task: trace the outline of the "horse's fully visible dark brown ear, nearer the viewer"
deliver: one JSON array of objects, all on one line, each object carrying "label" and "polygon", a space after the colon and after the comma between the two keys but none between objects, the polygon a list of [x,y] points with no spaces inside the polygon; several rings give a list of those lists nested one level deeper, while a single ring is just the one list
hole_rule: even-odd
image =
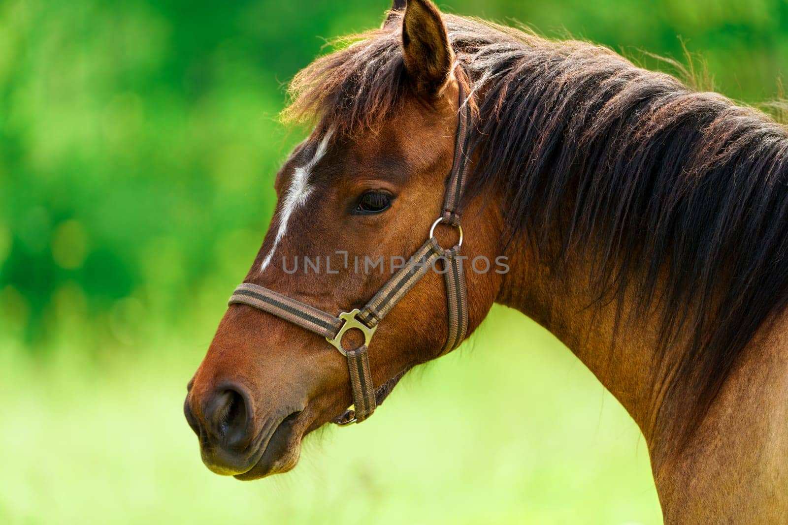
[{"label": "horse's fully visible dark brown ear, nearer the viewer", "polygon": [[416,90],[429,97],[439,94],[452,72],[454,52],[433,2],[407,1],[402,19],[402,49],[405,69]]}]

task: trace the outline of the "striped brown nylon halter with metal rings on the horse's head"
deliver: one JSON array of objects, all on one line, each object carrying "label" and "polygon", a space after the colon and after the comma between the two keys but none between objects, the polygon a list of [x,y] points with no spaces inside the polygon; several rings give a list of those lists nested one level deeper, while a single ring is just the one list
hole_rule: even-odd
[{"label": "striped brown nylon halter with metal rings on the horse's head", "polygon": [[[268,312],[305,330],[322,335],[344,357],[348,359],[348,372],[353,392],[353,409],[337,416],[333,423],[348,425],[366,420],[374,409],[391,392],[402,374],[389,379],[377,390],[370,373],[369,346],[378,324],[394,305],[439,259],[444,261],[444,282],[448,305],[448,337],[441,354],[447,353],[466,336],[468,330],[468,309],[465,275],[459,259],[460,246],[463,245],[463,228],[459,224],[459,206],[463,197],[468,172],[468,126],[471,120],[470,105],[466,101],[463,83],[459,83],[459,116],[455,134],[455,149],[452,170],[449,172],[444,195],[443,212],[429,230],[426,242],[416,250],[407,264],[394,273],[391,279],[377,291],[377,294],[363,309],[354,309],[333,316],[296,299],[288,298],[268,288],[252,283],[243,283],[236,288],[229,305],[249,305]],[[445,250],[437,242],[434,233],[438,224],[448,224],[459,231],[459,241]],[[364,343],[355,349],[344,349],[342,337],[352,329],[362,331]]]}]

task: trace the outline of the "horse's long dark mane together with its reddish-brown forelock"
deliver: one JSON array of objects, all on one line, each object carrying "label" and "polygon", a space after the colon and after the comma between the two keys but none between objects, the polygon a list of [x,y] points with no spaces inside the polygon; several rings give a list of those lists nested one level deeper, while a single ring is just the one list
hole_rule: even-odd
[{"label": "horse's long dark mane together with its reddish-brown forelock", "polygon": [[[344,135],[382,125],[408,89],[395,20],[300,72],[285,117]],[[556,271],[578,249],[593,253],[599,302],[620,310],[637,282],[634,314],[659,304],[663,353],[689,335],[679,373],[701,393],[700,418],[788,303],[786,128],[600,46],[444,21],[478,95],[467,196],[499,191],[506,242],[535,233]],[[559,246],[546,234],[556,227]]]}]

